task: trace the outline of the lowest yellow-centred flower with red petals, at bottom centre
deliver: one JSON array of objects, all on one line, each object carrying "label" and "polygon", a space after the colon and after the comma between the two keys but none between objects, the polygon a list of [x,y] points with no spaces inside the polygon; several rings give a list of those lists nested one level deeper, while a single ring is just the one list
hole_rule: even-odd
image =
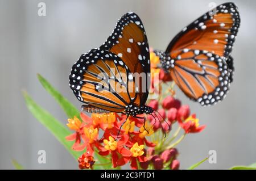
[{"label": "lowest yellow-centred flower with red petals, at bottom centre", "polygon": [[137,159],[139,162],[146,162],[147,158],[144,156],[144,145],[139,145],[138,142],[131,147],[131,169],[138,169]]}]

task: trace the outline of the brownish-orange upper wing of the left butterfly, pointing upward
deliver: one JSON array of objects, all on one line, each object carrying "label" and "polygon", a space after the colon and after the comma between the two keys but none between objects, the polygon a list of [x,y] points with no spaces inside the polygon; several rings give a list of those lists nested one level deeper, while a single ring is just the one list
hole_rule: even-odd
[{"label": "brownish-orange upper wing of the left butterfly, pointing upward", "polygon": [[150,54],[146,32],[139,16],[134,12],[123,15],[100,49],[117,54],[132,73],[137,73],[135,82],[139,84],[139,106],[144,106],[150,87]]}]

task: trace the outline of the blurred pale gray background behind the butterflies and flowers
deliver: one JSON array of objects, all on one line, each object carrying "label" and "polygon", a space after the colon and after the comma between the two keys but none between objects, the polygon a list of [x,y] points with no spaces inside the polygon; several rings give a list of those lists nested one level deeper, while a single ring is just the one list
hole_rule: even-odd
[{"label": "blurred pale gray background behind the butterflies and flowers", "polygon": [[[46,16],[38,16],[38,3],[46,3]],[[78,108],[68,86],[68,75],[80,54],[99,47],[115,23],[128,11],[142,19],[150,47],[165,49],[184,26],[209,10],[209,3],[225,1],[12,1],[0,0],[0,169],[13,169],[15,158],[26,169],[77,169],[77,163],[43,125],[28,112],[25,89],[63,124],[67,122],[55,100],[36,78],[42,74]],[[236,71],[226,99],[201,107],[178,92],[207,128],[191,134],[178,146],[181,169],[217,151],[217,163],[198,169],[228,169],[256,162],[255,78],[256,1],[234,1],[241,28],[234,44]],[[38,163],[38,150],[46,150],[46,164]]]}]

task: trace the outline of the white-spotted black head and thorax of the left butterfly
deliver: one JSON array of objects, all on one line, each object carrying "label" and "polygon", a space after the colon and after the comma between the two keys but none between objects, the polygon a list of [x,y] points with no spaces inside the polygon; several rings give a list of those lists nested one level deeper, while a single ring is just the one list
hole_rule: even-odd
[{"label": "white-spotted black head and thorax of the left butterfly", "polygon": [[149,106],[134,106],[133,104],[130,104],[129,106],[126,106],[125,113],[127,115],[136,116],[141,115],[143,113],[150,114],[154,112],[154,109]]}]

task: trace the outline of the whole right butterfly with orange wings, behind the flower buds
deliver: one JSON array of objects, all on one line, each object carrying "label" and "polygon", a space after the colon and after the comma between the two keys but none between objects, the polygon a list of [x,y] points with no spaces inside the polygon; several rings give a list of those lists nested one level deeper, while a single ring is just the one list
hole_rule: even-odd
[{"label": "whole right butterfly with orange wings, behind the flower buds", "polygon": [[154,52],[188,98],[210,106],[225,98],[233,81],[230,53],[239,27],[237,6],[224,3],[183,28],[165,52]]}]

